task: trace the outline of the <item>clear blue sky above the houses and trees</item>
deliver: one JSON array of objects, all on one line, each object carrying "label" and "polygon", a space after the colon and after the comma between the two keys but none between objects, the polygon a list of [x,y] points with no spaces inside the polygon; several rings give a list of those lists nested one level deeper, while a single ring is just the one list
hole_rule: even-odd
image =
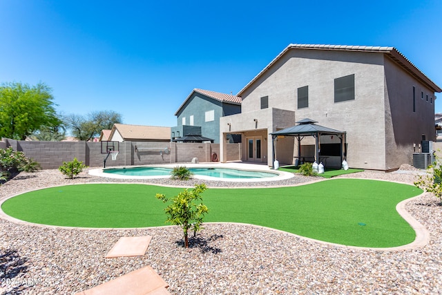
[{"label": "clear blue sky above the houses and trees", "polygon": [[236,94],[291,43],[394,46],[442,86],[440,0],[0,0],[0,38],[0,83],[126,124],[175,126],[193,88]]}]

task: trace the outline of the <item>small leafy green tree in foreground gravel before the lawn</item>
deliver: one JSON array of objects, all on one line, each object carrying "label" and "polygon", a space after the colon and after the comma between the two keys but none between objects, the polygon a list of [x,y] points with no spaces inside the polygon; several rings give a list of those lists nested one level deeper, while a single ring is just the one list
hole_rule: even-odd
[{"label": "small leafy green tree in foreground gravel before the lawn", "polygon": [[[166,214],[169,214],[166,222],[171,222],[173,225],[179,225],[184,231],[184,247],[189,247],[188,232],[193,229],[196,233],[202,229],[202,220],[204,214],[209,212],[206,205],[202,204],[201,193],[206,190],[206,184],[195,184],[195,188],[189,191],[184,189],[177,196],[173,197],[172,203],[164,209]],[[166,203],[169,199],[162,193],[157,193],[156,198]],[[200,201],[199,204],[195,202]]]}]

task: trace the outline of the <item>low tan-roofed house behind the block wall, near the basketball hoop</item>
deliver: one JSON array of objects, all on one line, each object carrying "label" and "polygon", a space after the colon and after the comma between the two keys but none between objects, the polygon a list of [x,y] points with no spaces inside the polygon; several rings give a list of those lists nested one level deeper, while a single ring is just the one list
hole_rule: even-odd
[{"label": "low tan-roofed house behind the block wall, near the basketball hoop", "polygon": [[114,124],[109,139],[118,131],[123,140],[170,140],[171,127]]}]

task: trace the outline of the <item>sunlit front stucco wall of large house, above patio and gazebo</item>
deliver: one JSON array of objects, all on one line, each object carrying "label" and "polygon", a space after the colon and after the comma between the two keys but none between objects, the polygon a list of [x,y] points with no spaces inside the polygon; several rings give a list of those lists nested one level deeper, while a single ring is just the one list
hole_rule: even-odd
[{"label": "sunlit front stucco wall of large house, above patio and gazebo", "polygon": [[[334,79],[355,75],[355,99],[334,102]],[[269,107],[295,111],[318,124],[347,132],[349,165],[385,170],[383,55],[332,50],[291,50],[243,94],[242,110]],[[309,86],[309,107],[297,109],[297,89]],[[304,144],[302,142],[302,144]]]}]

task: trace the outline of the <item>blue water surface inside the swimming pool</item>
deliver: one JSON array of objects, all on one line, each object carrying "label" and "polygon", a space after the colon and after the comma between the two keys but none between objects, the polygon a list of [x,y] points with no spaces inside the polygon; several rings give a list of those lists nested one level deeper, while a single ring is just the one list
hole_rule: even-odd
[{"label": "blue water surface inside the swimming pool", "polygon": [[[171,175],[171,168],[163,167],[129,167],[129,168],[108,168],[103,169],[104,173],[112,173],[128,176],[168,176]],[[246,171],[229,168],[189,168],[194,175],[204,175],[213,178],[249,179],[249,178],[271,178],[278,176],[277,173],[262,171]]]}]

